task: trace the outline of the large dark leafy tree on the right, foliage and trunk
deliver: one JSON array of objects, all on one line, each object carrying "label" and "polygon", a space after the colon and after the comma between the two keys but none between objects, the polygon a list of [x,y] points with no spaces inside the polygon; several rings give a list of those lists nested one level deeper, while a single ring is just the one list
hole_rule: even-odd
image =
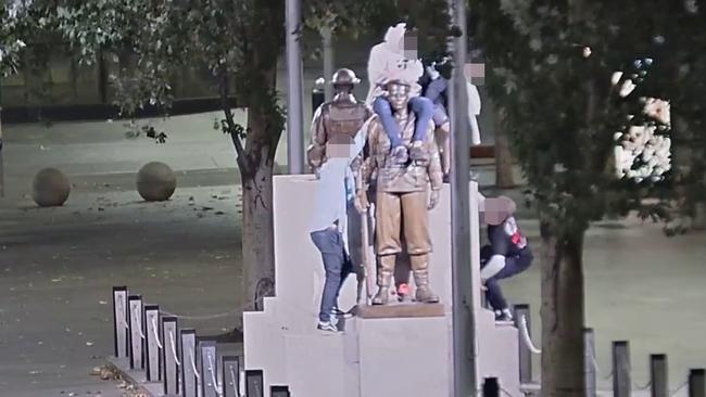
[{"label": "large dark leafy tree on the right, foliage and trunk", "polygon": [[[671,101],[672,119],[682,119],[671,132],[677,142],[703,142],[704,55],[696,49],[706,43],[704,10],[694,1],[667,0],[471,4],[488,88],[506,113],[541,219],[543,395],[582,395],[585,230],[630,210],[668,219],[675,198],[703,182],[701,161],[681,164],[658,182],[617,180],[609,168],[615,132],[652,123],[641,114],[644,97]],[[636,67],[645,60],[651,67]],[[610,82],[617,71],[639,81],[628,97]],[[703,157],[703,143],[691,148],[693,157]]]}]

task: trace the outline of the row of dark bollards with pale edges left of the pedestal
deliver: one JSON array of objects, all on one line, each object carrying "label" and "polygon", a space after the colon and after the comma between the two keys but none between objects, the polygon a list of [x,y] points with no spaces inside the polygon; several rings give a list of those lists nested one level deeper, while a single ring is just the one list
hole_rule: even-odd
[{"label": "row of dark bollards with pale edges left of the pedestal", "polygon": [[[179,329],[157,305],[125,286],[113,287],[115,358],[124,371],[144,372],[148,383],[162,384],[160,396],[264,397],[262,370],[242,371],[240,357],[223,356],[217,344]],[[244,374],[244,375],[243,375]],[[289,397],[287,386],[272,386],[273,397]]]}]

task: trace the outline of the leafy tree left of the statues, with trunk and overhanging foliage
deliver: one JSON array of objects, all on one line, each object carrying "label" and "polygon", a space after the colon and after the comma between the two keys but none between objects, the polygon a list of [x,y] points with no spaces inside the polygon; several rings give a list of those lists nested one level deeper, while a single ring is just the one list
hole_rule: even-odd
[{"label": "leafy tree left of the statues, with trunk and overhanging foliage", "polygon": [[[407,21],[418,22],[421,37],[434,37],[427,47],[444,42],[444,7],[400,3],[303,0],[302,29],[382,34],[387,26]],[[147,104],[168,113],[177,73],[210,72],[213,92],[223,104],[218,127],[231,138],[242,177],[245,299],[270,293],[266,286],[272,287],[274,279],[272,176],[285,126],[276,92],[277,62],[285,47],[285,0],[4,0],[3,7],[2,72],[16,69],[22,40],[41,42],[41,35],[59,35],[83,63],[100,56],[119,61],[111,84],[127,116]],[[247,125],[234,119],[234,98],[248,108]],[[255,291],[257,285],[262,291]]]}]

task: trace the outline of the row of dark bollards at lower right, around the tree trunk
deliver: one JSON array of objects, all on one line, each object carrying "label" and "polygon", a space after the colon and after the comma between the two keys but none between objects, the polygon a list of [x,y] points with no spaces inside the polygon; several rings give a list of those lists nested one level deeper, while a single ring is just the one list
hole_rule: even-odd
[{"label": "row of dark bollards at lower right, around the tree trunk", "polygon": [[[529,335],[530,309],[529,305],[516,305],[515,325],[519,333],[519,379],[522,388],[529,390],[533,385],[532,380],[532,351],[531,337]],[[524,335],[522,333],[527,333]],[[597,377],[600,370],[595,359],[595,334],[593,329],[584,329],[584,368],[585,368],[585,396],[597,396]],[[630,364],[630,344],[627,341],[616,341],[613,343],[613,372],[605,379],[613,377],[613,394],[615,397],[630,397],[633,389]],[[493,382],[489,385],[489,390],[494,390]],[[692,369],[689,373],[689,380],[676,390],[669,389],[667,355],[656,354],[650,356],[650,383],[644,387],[634,387],[646,390],[650,388],[652,397],[671,397],[681,388],[688,387],[689,397],[706,397],[706,370]],[[486,386],[483,386],[483,392]],[[492,392],[494,393],[494,392]],[[483,394],[486,396],[486,394]],[[488,396],[495,396],[490,394]]]}]

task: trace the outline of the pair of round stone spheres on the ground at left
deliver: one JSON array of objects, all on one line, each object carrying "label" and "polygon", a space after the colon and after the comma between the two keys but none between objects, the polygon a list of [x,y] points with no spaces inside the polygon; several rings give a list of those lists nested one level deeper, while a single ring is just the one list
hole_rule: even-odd
[{"label": "pair of round stone spheres on the ground at left", "polygon": [[[176,175],[160,162],[146,164],[137,172],[137,192],[147,202],[167,201],[176,190]],[[71,194],[71,182],[56,168],[43,168],[31,182],[31,198],[40,207],[60,207]]]}]

